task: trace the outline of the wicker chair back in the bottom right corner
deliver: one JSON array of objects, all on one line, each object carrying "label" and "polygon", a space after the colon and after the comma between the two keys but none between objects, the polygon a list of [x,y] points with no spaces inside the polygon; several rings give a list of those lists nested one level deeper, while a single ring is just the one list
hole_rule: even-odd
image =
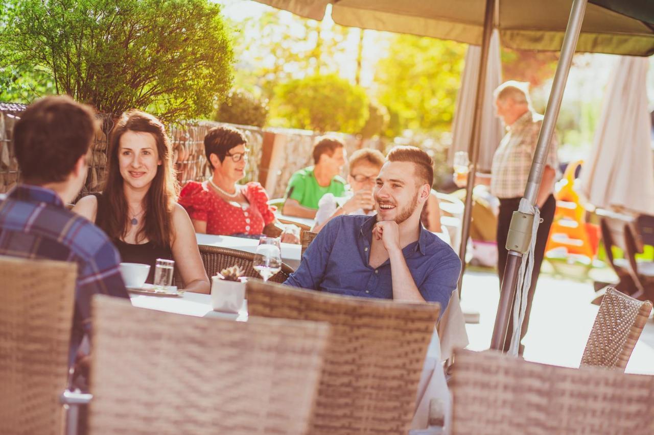
[{"label": "wicker chair back in the bottom right corner", "polygon": [[654,376],[456,351],[449,384],[457,434],[652,434]]}]

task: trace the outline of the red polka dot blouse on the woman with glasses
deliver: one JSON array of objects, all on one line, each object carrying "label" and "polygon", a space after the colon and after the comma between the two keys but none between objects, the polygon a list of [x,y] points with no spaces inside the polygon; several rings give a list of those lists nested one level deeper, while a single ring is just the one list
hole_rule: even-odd
[{"label": "red polka dot blouse on the woman with glasses", "polygon": [[264,227],[275,221],[275,208],[267,204],[268,195],[262,185],[251,182],[241,191],[249,206],[225,201],[207,182],[188,182],[179,195],[179,203],[191,219],[207,222],[207,234],[262,234]]}]

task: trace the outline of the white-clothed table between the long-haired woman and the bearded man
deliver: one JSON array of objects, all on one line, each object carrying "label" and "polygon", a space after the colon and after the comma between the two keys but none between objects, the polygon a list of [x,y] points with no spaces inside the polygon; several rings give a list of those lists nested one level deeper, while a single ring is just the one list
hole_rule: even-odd
[{"label": "white-clothed table between the long-haired woman and the bearded man", "polygon": [[[214,317],[234,321],[247,321],[247,300],[243,301],[237,313],[214,311],[211,306],[211,295],[182,292],[179,296],[143,295],[130,293],[131,304],[139,308],[158,310],[163,312],[193,315],[195,317]],[[418,384],[416,396],[416,410],[411,422],[411,429],[421,430],[427,427],[430,402],[439,400],[448,419],[451,409],[451,396],[447,389],[443,364],[441,361],[441,348],[438,331],[434,328],[432,340],[427,348],[421,379]],[[420,432],[415,432],[420,433]]]}]

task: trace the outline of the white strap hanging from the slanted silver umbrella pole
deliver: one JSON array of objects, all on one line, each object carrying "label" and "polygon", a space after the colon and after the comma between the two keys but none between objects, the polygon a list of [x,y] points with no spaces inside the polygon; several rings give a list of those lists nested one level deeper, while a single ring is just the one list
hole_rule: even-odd
[{"label": "white strap hanging from the slanted silver umbrella pole", "polygon": [[532,226],[531,240],[529,242],[529,250],[523,255],[518,270],[518,282],[515,291],[515,303],[513,305],[513,335],[511,336],[511,346],[509,346],[509,355],[517,355],[518,347],[520,346],[520,334],[523,327],[523,320],[525,319],[525,312],[527,307],[527,298],[529,287],[531,286],[532,272],[534,271],[534,251],[536,249],[536,235],[538,234],[538,224],[540,223],[540,210],[538,207],[533,206],[532,203],[525,198],[520,200],[518,211],[521,213],[534,215],[534,223]]}]

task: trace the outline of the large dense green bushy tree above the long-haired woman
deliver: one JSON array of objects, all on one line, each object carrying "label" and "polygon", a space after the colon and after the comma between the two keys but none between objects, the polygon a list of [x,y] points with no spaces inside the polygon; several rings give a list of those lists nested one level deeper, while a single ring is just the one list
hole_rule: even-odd
[{"label": "large dense green bushy tree above the long-haired woman", "polygon": [[209,0],[10,0],[2,22],[5,71],[42,71],[101,112],[205,117],[231,87],[232,42]]}]

